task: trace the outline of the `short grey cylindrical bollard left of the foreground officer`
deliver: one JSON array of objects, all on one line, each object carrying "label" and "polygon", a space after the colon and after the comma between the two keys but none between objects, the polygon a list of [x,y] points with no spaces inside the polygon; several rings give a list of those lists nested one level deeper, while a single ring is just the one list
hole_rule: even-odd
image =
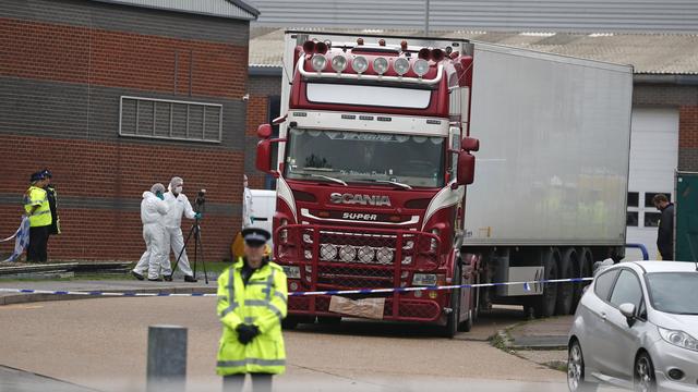
[{"label": "short grey cylindrical bollard left of the foreground officer", "polygon": [[186,380],[186,328],[148,327],[147,392],[184,392]]}]

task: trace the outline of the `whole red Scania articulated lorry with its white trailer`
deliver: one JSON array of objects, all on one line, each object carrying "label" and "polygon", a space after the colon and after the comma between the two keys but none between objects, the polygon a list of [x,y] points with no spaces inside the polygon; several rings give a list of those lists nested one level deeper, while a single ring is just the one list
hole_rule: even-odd
[{"label": "whole red Scania articulated lorry with its white trailer", "polygon": [[[289,291],[590,277],[623,257],[630,66],[462,39],[285,39],[279,134],[260,126],[256,167],[277,177]],[[285,326],[352,316],[453,336],[492,304],[569,314],[582,289],[292,296]]]}]

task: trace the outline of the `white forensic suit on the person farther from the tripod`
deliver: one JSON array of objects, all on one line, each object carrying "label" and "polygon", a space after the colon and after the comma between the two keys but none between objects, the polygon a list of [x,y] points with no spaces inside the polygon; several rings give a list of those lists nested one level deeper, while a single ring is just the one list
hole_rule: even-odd
[{"label": "white forensic suit on the person farther from the tripod", "polygon": [[158,279],[160,272],[164,275],[171,274],[170,264],[167,261],[168,248],[165,238],[165,216],[169,207],[152,192],[143,193],[141,201],[141,221],[143,222],[143,240],[145,240],[145,253],[133,269],[143,274],[148,270],[148,279]]}]

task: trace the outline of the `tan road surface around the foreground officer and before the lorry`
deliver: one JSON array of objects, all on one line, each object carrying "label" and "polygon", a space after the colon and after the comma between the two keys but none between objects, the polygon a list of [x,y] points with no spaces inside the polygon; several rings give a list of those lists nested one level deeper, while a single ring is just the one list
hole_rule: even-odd
[{"label": "tan road surface around the foreground officer and before the lorry", "polygon": [[[0,307],[0,365],[104,391],[143,391],[147,327],[189,329],[188,391],[216,391],[215,298],[100,298]],[[276,391],[563,391],[565,375],[492,347],[522,320],[501,309],[454,340],[433,328],[348,320],[285,334]],[[0,384],[0,390],[2,387]]]}]

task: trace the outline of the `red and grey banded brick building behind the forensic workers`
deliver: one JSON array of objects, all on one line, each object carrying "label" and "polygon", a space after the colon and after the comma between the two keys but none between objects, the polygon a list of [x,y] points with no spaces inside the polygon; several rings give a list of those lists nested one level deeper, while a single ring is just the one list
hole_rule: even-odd
[{"label": "red and grey banded brick building behind the forensic workers", "polygon": [[227,258],[257,14],[240,0],[0,2],[0,236],[49,168],[63,231],[49,258],[135,260],[141,195],[178,175],[191,200],[207,189],[206,259]]}]

